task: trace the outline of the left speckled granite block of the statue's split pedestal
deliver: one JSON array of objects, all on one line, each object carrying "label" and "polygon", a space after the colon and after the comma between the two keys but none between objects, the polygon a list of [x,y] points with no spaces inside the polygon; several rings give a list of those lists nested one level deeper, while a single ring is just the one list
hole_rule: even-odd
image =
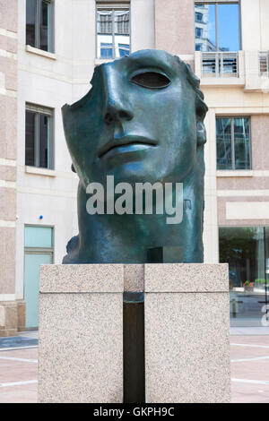
[{"label": "left speckled granite block of the statue's split pedestal", "polygon": [[122,401],[123,273],[123,265],[41,266],[39,402]]}]

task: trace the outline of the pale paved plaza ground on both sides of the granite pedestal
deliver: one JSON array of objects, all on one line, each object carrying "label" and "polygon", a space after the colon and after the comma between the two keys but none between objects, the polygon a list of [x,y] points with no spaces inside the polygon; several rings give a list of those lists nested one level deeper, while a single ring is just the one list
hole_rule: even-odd
[{"label": "pale paved plaza ground on both sides of the granite pedestal", "polygon": [[[269,329],[230,331],[232,402],[269,403]],[[0,403],[37,402],[38,332],[0,338]]]}]

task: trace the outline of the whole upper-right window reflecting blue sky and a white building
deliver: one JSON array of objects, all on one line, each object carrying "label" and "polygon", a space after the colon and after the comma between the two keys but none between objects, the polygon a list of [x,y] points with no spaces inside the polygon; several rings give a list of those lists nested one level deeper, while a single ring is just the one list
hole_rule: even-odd
[{"label": "whole upper-right window reflecting blue sky and a white building", "polygon": [[[204,6],[203,8],[201,6]],[[202,51],[239,51],[239,3],[195,4],[195,39],[196,28],[204,26]],[[199,12],[198,12],[199,11]],[[199,18],[198,15],[202,15]],[[198,40],[199,44],[200,41]],[[195,48],[196,49],[196,48]],[[197,51],[197,49],[196,49]]]}]

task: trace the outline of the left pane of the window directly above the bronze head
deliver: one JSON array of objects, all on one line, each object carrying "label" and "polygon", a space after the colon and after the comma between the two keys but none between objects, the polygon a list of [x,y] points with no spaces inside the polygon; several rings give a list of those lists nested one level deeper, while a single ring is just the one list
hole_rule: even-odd
[{"label": "left pane of the window directly above the bronze head", "polygon": [[113,58],[112,11],[97,12],[97,56]]}]

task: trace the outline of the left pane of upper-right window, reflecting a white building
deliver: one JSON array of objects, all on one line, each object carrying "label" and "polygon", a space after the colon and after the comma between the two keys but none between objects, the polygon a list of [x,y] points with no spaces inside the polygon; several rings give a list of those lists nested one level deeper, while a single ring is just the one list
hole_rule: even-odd
[{"label": "left pane of upper-right window, reflecting a white building", "polygon": [[203,7],[195,4],[195,46],[196,51],[217,49],[215,4],[204,4]]}]

